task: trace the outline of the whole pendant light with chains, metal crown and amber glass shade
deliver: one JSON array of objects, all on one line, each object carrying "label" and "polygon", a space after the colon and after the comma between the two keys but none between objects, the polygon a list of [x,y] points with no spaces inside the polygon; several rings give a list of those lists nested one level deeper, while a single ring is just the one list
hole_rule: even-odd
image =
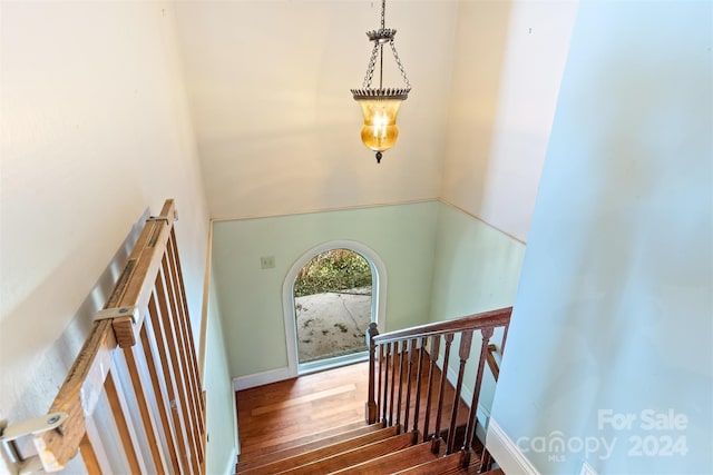
[{"label": "whole pendant light with chains, metal crown and amber glass shade", "polygon": [[[352,89],[354,100],[361,106],[364,113],[364,125],[361,128],[361,140],[367,147],[377,152],[377,162],[381,162],[382,152],[390,149],[399,138],[399,127],[397,126],[397,113],[401,102],[409,97],[411,83],[406,77],[403,66],[393,44],[393,37],[397,30],[384,27],[385,22],[387,0],[381,1],[381,28],[368,31],[369,41],[373,41],[374,47],[371,50],[371,58],[367,67],[367,76],[362,89]],[[406,85],[404,88],[383,88],[383,47],[391,47],[393,58],[397,61],[399,71]],[[371,87],[371,81],[379,60],[379,88]]]}]

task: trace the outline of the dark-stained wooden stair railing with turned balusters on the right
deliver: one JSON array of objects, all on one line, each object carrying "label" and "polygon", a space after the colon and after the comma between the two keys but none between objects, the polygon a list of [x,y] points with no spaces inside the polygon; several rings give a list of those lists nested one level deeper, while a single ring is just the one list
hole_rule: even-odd
[{"label": "dark-stained wooden stair railing with turned balusters on the right", "polygon": [[[403,330],[379,335],[375,324],[369,327],[369,397],[365,418],[369,424],[382,423],[384,427],[402,426],[413,433],[413,443],[431,441],[433,453],[446,444],[446,454],[461,452],[461,464],[470,464],[475,445],[478,399],[482,385],[485,364],[492,358],[490,338],[498,327],[504,327],[500,353],[505,349],[507,330],[512,307],[470,315],[467,317],[438,321]],[[481,344],[470,409],[462,435],[457,437],[458,416],[466,364],[470,358],[473,333],[480,333]],[[450,414],[445,414],[448,369],[451,364],[453,342],[458,340],[458,374],[452,392]],[[443,354],[441,358],[441,343]],[[497,348],[497,346],[496,346]],[[455,364],[456,362],[453,362]],[[495,363],[495,359],[492,359]],[[492,364],[489,363],[489,366]],[[490,366],[492,368],[492,366]],[[497,364],[496,364],[497,368]],[[440,375],[440,376],[439,376]],[[494,376],[497,375],[494,372]],[[437,384],[438,380],[438,384]],[[426,386],[423,388],[423,386]],[[423,390],[426,389],[426,390]],[[426,392],[426,395],[423,393]],[[431,428],[431,414],[436,409],[436,420]],[[411,409],[413,413],[411,414]],[[443,418],[446,417],[446,420]],[[420,425],[420,426],[419,426]],[[441,434],[447,437],[441,441]],[[458,446],[457,446],[458,443]],[[487,453],[481,459],[488,458]]]}]

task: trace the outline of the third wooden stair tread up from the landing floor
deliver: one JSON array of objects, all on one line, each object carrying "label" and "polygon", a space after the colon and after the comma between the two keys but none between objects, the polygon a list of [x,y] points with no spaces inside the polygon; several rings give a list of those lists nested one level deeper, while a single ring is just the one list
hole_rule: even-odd
[{"label": "third wooden stair tread up from the landing floor", "polygon": [[393,437],[352,448],[299,467],[286,468],[281,473],[289,473],[291,475],[333,473],[352,465],[410,447],[413,435],[411,433],[394,435]]}]

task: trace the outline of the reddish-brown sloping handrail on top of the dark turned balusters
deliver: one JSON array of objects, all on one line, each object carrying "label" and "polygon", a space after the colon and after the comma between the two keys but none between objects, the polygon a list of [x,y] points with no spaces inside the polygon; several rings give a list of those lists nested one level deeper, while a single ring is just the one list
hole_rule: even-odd
[{"label": "reddish-brown sloping handrail on top of the dark turned balusters", "polygon": [[506,326],[510,321],[512,307],[499,308],[497,310],[484,311],[481,314],[468,315],[446,321],[420,325],[395,331],[380,334],[374,337],[375,344],[400,342],[403,339],[422,338],[432,335],[443,335],[447,333],[458,333],[463,330],[480,330],[490,327]]}]

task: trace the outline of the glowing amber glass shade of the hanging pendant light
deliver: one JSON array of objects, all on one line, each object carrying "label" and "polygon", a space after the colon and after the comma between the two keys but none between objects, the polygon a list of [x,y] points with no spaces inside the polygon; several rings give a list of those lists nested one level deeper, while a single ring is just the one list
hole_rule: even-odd
[{"label": "glowing amber glass shade of the hanging pendant light", "polygon": [[402,100],[370,98],[360,99],[358,102],[364,113],[361,141],[377,152],[393,147],[399,138],[397,115]]}]

